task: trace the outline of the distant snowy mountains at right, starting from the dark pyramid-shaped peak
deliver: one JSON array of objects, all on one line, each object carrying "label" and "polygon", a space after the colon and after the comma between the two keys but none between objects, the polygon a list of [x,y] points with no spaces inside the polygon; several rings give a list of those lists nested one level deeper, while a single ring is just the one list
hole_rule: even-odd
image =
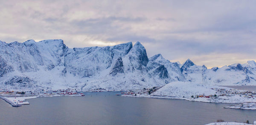
[{"label": "distant snowy mountains at right, starting from the dark pyramid-shaped peak", "polygon": [[205,65],[195,65],[188,59],[180,70],[186,80],[191,82],[202,82],[208,85],[256,85],[256,62],[254,61],[207,69]]}]

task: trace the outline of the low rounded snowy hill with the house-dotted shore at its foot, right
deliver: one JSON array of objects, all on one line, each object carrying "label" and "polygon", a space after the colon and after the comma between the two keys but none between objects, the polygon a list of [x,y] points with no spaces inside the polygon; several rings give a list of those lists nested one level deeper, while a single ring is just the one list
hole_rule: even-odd
[{"label": "low rounded snowy hill with the house-dotted shore at its foot, right", "polygon": [[[134,94],[125,94],[125,96],[186,99],[189,101],[215,103],[256,102],[256,92],[240,91],[221,86],[202,85],[196,82],[171,82],[161,88],[144,89]],[[250,109],[254,108],[256,108],[256,106],[251,105]]]}]

